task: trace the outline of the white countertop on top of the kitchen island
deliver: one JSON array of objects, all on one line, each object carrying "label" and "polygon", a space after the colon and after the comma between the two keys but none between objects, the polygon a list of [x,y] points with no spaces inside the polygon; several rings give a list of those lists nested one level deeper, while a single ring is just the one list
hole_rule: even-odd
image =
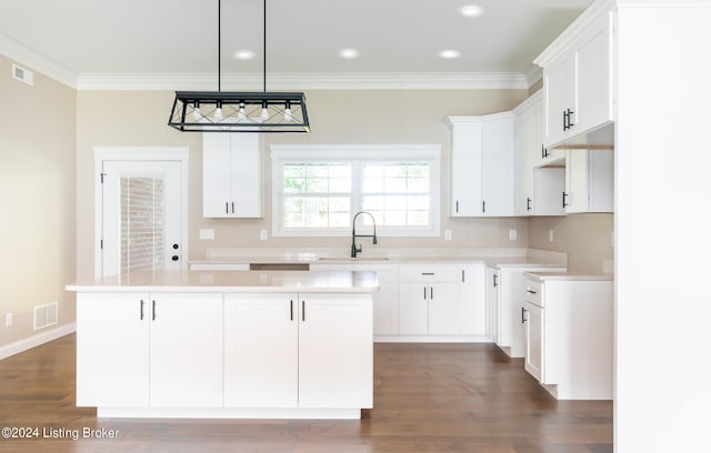
[{"label": "white countertop on top of the kitchen island", "polygon": [[371,271],[168,271],[130,272],[68,284],[77,292],[324,292],[372,293]]}]

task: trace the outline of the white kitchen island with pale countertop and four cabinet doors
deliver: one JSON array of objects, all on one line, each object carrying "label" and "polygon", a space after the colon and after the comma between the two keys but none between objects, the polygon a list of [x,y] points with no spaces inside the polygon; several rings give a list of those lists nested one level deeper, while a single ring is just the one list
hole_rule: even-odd
[{"label": "white kitchen island with pale countertop and four cabinet doors", "polygon": [[77,405],[106,417],[359,419],[373,272],[141,272],[78,282]]}]

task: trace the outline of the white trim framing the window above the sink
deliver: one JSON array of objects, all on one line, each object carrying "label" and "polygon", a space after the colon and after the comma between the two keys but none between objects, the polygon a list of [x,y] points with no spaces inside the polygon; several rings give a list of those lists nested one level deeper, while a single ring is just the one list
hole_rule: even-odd
[{"label": "white trim framing the window above the sink", "polygon": [[[359,164],[361,161],[427,161],[430,164],[430,198],[432,224],[427,229],[408,226],[381,228],[378,225],[379,236],[415,238],[440,235],[440,160],[442,147],[440,144],[272,144],[271,150],[271,181],[272,181],[272,235],[274,236],[349,236],[349,228],[323,228],[309,230],[283,230],[281,221],[283,207],[283,164],[301,162],[350,161]],[[353,181],[360,187],[360,181]],[[360,202],[360,192],[356,199]],[[354,212],[353,212],[354,213]]]}]

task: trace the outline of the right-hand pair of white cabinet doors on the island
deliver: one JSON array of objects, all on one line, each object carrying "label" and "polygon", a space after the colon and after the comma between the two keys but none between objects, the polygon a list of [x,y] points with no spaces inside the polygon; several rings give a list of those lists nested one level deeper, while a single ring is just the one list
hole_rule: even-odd
[{"label": "right-hand pair of white cabinet doors on the island", "polygon": [[224,405],[372,407],[370,295],[226,294]]}]

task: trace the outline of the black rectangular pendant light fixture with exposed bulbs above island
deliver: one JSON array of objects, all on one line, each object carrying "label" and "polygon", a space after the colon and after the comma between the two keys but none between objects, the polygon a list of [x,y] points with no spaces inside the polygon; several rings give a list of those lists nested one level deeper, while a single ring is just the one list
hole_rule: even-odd
[{"label": "black rectangular pendant light fixture with exposed bulbs above island", "polygon": [[267,92],[267,0],[262,92],[222,91],[221,9],[218,0],[218,91],[176,91],[168,125],[182,132],[311,132],[302,92]]}]

